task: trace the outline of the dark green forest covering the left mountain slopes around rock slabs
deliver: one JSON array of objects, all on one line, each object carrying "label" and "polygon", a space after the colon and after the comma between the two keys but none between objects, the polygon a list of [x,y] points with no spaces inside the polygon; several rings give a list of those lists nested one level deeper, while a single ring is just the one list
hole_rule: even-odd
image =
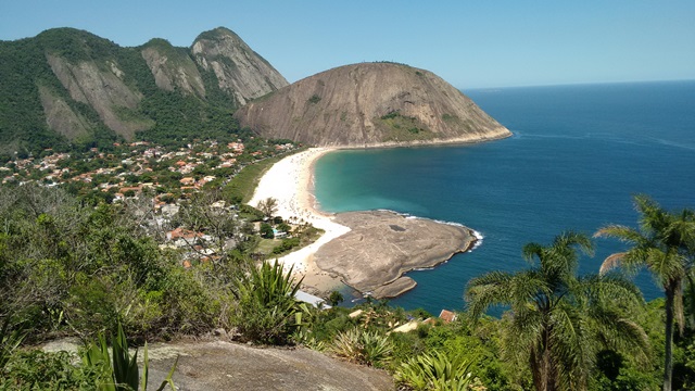
[{"label": "dark green forest covering the left mountain slopes around rock slabs", "polygon": [[[212,34],[212,33],[211,33]],[[123,72],[124,83],[142,94],[136,110],[118,108],[121,119],[146,124],[136,139],[161,146],[180,146],[197,138],[232,139],[239,130],[232,118],[237,102],[219,88],[214,72],[199,68],[205,98],[157,88],[141,51],[156,47],[177,55],[190,55],[189,49],[174,48],[154,39],[136,48],[122,48],[88,31],[55,28],[34,38],[0,41],[0,160],[16,152],[20,159],[37,155],[43,149],[59,152],[110,150],[123,137],[108,128],[90,105],[73,100],[54,75],[47,55],[58,55],[70,63],[92,62],[100,68],[111,62]],[[89,135],[66,137],[50,129],[39,93],[47,88],[65,101],[70,109],[86,118]]]}]

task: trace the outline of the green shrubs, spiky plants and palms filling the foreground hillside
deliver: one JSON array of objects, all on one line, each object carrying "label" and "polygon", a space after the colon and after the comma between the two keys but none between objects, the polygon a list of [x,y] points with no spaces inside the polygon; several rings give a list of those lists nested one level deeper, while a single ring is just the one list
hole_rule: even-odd
[{"label": "green shrubs, spiky plants and palms filling the foreground hillside", "polygon": [[[223,197],[216,194],[202,205]],[[273,214],[268,203],[267,211],[255,211],[258,218]],[[598,230],[634,245],[607,265],[644,264],[664,281],[666,300],[644,303],[615,270],[578,276],[580,255],[594,243],[565,232],[549,244],[526,245],[528,269],[472,279],[467,308],[445,323],[387,302],[324,311],[301,303],[293,298],[300,281],[278,264],[253,261],[257,241],[240,235],[248,226],[222,224],[230,220],[205,215],[205,209],[182,207],[177,224],[194,222],[238,240],[233,248],[220,242],[211,262],[185,268],[182,253],[160,245],[142,210],[131,204],[94,207],[59,189],[0,188],[0,389],[104,387],[114,379],[99,358],[104,341],[142,345],[217,328],[238,341],[300,344],[383,368],[402,389],[692,388],[695,220],[690,210],[669,213],[646,198],[636,205],[640,230]],[[508,311],[501,318],[484,315],[495,304]],[[410,321],[412,331],[394,331]],[[81,361],[31,348],[66,336],[91,346]],[[142,384],[143,371],[131,384]]]}]

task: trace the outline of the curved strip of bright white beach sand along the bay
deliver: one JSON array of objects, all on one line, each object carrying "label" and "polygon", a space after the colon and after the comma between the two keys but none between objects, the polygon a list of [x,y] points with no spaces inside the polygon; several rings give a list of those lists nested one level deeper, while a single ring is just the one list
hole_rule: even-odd
[{"label": "curved strip of bright white beach sand along the bay", "polygon": [[350,231],[350,228],[332,220],[332,215],[315,207],[313,194],[314,163],[332,148],[312,148],[287,156],[274,164],[261,178],[249,204],[273,197],[278,202],[277,215],[290,223],[309,223],[325,231],[314,243],[292,252],[279,261],[286,269],[293,267],[295,277],[304,277],[304,285],[320,291],[330,291],[340,281],[319,269],[313,261],[316,251],[329,241]]}]

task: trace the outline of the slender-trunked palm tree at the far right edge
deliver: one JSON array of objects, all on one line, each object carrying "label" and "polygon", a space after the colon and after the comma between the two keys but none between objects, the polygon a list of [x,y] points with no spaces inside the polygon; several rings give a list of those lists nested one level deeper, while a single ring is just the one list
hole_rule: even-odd
[{"label": "slender-trunked palm tree at the far right edge", "polygon": [[672,214],[646,195],[634,197],[640,213],[640,229],[610,225],[595,237],[618,238],[632,244],[624,252],[608,256],[601,273],[622,266],[634,273],[646,267],[664,288],[666,295],[666,354],[664,390],[670,391],[673,376],[673,323],[683,331],[683,282],[692,279],[695,253],[695,212],[683,210]]}]

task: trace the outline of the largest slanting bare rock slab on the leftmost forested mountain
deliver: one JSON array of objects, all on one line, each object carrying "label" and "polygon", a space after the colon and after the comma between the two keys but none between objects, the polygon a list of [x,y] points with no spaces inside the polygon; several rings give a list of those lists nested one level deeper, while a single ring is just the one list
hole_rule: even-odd
[{"label": "largest slanting bare rock slab on the leftmost forested mountain", "polygon": [[123,81],[124,73],[118,64],[110,61],[104,70],[93,61],[74,64],[52,54],[47,54],[47,59],[71,98],[92,106],[109,128],[126,139],[147,128],[142,123],[123,121],[117,114],[119,109],[135,110],[142,99],[142,93]]}]

